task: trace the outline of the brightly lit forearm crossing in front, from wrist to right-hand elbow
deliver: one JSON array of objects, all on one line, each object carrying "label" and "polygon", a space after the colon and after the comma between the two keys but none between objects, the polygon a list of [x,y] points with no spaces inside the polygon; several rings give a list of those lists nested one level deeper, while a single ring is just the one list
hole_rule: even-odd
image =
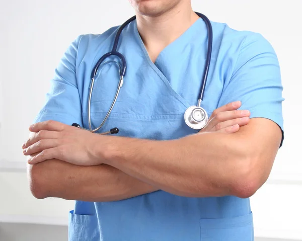
[{"label": "brightly lit forearm crossing in front, from wrist to right-hand elbow", "polygon": [[268,177],[279,141],[265,150],[250,141],[256,128],[259,124],[235,134],[201,133],[169,141],[112,137],[114,145],[100,153],[106,164],[176,195],[245,198]]}]

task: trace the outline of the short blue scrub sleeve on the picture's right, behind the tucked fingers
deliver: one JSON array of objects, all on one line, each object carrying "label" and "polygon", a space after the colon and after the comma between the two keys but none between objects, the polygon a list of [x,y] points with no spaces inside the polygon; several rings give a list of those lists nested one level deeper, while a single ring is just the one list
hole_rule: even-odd
[{"label": "short blue scrub sleeve on the picture's right, behind the tucked fingers", "polygon": [[277,123],[283,142],[282,90],[274,49],[264,37],[253,33],[241,46],[232,77],[224,84],[218,106],[241,101],[240,109],[249,110],[251,118],[263,117]]}]

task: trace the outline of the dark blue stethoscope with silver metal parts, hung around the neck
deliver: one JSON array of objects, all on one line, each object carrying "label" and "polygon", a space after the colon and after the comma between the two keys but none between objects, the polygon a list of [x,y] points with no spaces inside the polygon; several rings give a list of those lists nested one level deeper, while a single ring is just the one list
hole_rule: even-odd
[{"label": "dark blue stethoscope with silver metal parts, hung around the neck", "polygon": [[[207,27],[207,30],[208,30],[208,49],[207,49],[207,54],[206,54],[206,62],[205,62],[205,66],[204,66],[204,72],[203,72],[203,76],[202,76],[200,95],[199,95],[199,99],[197,101],[197,106],[190,106],[186,110],[184,118],[185,118],[186,124],[189,127],[191,127],[192,129],[195,129],[195,130],[199,130],[199,129],[202,129],[203,127],[205,127],[206,124],[207,124],[207,121],[208,121],[208,115],[207,115],[206,111],[200,106],[201,106],[201,102],[202,102],[203,96],[204,96],[204,90],[205,90],[205,86],[206,86],[206,81],[207,81],[207,76],[208,76],[208,71],[209,71],[209,66],[210,66],[210,61],[211,61],[213,32],[212,32],[212,26],[211,26],[211,23],[210,23],[209,19],[203,14],[200,14],[200,13],[196,13],[196,14],[200,18],[202,18],[203,21],[206,24],[206,27]],[[120,89],[123,86],[124,77],[126,75],[126,69],[127,69],[127,64],[126,64],[125,57],[120,52],[117,51],[117,45],[118,45],[118,42],[119,42],[120,34],[121,34],[122,30],[130,22],[132,22],[135,19],[136,19],[136,17],[133,16],[132,18],[128,19],[125,23],[123,23],[119,27],[119,29],[116,33],[115,39],[114,39],[114,43],[113,43],[113,47],[112,47],[111,52],[108,52],[108,53],[104,54],[99,59],[99,61],[96,63],[95,67],[92,70],[91,83],[90,83],[90,87],[89,87],[90,90],[89,90],[89,96],[88,96],[88,110],[87,110],[88,111],[89,129],[83,128],[77,123],[73,123],[72,126],[75,126],[75,127],[81,128],[81,129],[85,129],[85,130],[89,130],[90,132],[96,132],[96,131],[100,130],[104,126],[105,122],[107,121],[107,119],[108,119],[108,117],[109,117],[109,115],[110,115],[110,113],[111,113],[111,111],[112,111],[112,109],[113,109],[113,107],[116,103],[116,100],[117,100],[118,95],[120,93]],[[117,56],[121,60],[121,65],[122,66],[120,66],[116,61],[113,61],[113,60],[104,62],[104,60],[106,58],[108,58],[109,56],[111,56],[111,55]],[[116,90],[114,99],[112,101],[112,104],[111,104],[104,120],[99,125],[99,127],[93,129],[92,125],[91,125],[91,98],[92,98],[92,92],[93,92],[93,88],[94,88],[94,84],[95,84],[95,77],[98,73],[100,65],[103,64],[103,66],[104,66],[105,63],[109,63],[109,62],[113,62],[113,63],[117,64],[117,66],[119,67],[120,79],[119,79],[119,83],[118,83],[118,88]],[[107,131],[107,132],[104,132],[104,133],[98,133],[98,134],[101,134],[101,135],[105,135],[105,134],[109,134],[109,133],[117,134],[118,132],[119,132],[118,128],[115,127],[115,128],[112,128],[110,131]]]}]

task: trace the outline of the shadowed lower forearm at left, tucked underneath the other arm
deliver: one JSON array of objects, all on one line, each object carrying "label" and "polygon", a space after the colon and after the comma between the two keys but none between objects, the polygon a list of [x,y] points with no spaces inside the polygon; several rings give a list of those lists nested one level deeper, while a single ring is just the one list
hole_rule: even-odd
[{"label": "shadowed lower forearm at left, tucked underneath the other arm", "polygon": [[111,166],[75,166],[61,160],[28,165],[32,194],[89,202],[118,201],[158,189]]}]

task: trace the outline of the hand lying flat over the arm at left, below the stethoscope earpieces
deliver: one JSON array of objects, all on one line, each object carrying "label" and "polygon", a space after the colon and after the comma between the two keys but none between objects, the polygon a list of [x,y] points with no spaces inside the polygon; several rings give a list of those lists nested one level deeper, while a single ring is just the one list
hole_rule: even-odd
[{"label": "hand lying flat over the arm at left, below the stethoscope earpieces", "polygon": [[104,136],[57,121],[39,122],[29,130],[34,134],[22,148],[24,155],[30,155],[28,163],[31,165],[53,158],[80,166],[102,164],[94,147],[96,143],[102,146],[100,140],[106,138]]}]

